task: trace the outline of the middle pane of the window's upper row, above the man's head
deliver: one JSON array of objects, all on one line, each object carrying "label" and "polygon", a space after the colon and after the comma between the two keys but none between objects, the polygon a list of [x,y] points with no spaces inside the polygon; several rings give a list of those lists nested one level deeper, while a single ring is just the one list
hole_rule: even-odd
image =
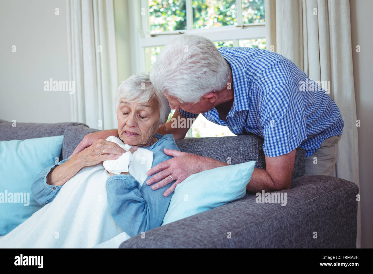
[{"label": "middle pane of the window's upper row, above the man's head", "polygon": [[192,0],[193,28],[237,24],[235,0]]}]

